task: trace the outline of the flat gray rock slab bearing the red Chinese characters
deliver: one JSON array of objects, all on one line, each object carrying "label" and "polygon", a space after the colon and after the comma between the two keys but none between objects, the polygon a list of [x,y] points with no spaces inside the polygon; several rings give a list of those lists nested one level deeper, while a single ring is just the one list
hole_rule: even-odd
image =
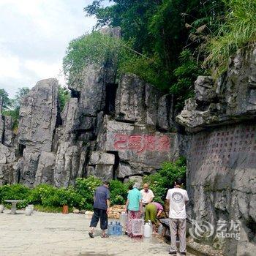
[{"label": "flat gray rock slab bearing the red Chinese characters", "polygon": [[108,118],[103,127],[98,137],[99,150],[116,151],[121,161],[129,162],[128,168],[135,168],[135,173],[127,172],[126,176],[135,175],[140,169],[140,173],[151,173],[162,162],[178,157],[176,133],[157,132],[146,124],[127,124]]}]

